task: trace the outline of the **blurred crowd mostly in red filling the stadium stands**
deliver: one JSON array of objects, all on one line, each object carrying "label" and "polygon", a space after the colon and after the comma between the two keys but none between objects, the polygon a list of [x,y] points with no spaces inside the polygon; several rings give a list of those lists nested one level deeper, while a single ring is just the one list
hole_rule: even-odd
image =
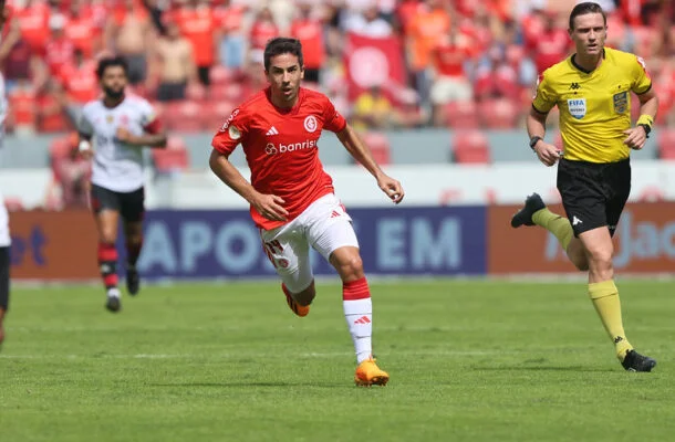
[{"label": "blurred crowd mostly in red filling the stadium stands", "polygon": [[[539,72],[572,50],[572,0],[8,0],[0,43],[15,134],[73,128],[97,96],[96,60],[123,55],[133,93],[169,129],[210,131],[266,84],[262,49],[300,39],[305,85],[326,93],[361,128],[516,127]],[[608,45],[642,55],[673,124],[675,7],[604,0]],[[397,39],[406,78],[346,91],[347,35]],[[204,109],[208,109],[205,112]],[[551,118],[551,123],[554,118]]]}]

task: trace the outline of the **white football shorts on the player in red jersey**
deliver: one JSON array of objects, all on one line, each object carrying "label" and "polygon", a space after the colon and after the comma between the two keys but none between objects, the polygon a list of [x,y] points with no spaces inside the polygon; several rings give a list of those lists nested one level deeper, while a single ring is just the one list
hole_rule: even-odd
[{"label": "white football shorts on the player in red jersey", "polygon": [[260,230],[260,238],[277,274],[291,293],[302,292],[314,280],[310,245],[326,261],[340,248],[359,248],[352,218],[333,193],[311,203],[291,222]]}]

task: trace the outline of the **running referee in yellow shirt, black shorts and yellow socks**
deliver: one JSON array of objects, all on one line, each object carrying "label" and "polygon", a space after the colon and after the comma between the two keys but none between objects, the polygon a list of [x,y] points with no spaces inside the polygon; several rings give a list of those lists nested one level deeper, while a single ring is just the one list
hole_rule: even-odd
[{"label": "running referee in yellow shirt, black shorts and yellow socks", "polygon": [[[644,61],[604,48],[606,17],[598,3],[570,13],[568,30],[577,52],[546,70],[527,118],[530,147],[541,162],[558,162],[558,190],[567,218],[552,213],[537,193],[526,199],[511,225],[540,225],[558,238],[570,261],[589,272],[589,296],[629,371],[651,371],[656,361],[626,339],[614,285],[612,235],[631,192],[631,149],[642,149],[652,130],[658,98]],[[631,127],[631,93],[640,118]],[[564,158],[546,143],[549,110],[560,110]]]}]

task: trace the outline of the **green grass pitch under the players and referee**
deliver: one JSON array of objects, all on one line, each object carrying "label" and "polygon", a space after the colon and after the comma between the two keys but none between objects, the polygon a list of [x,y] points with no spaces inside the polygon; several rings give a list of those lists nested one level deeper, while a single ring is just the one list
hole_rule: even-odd
[{"label": "green grass pitch under the players and referee", "polygon": [[0,441],[632,441],[675,434],[675,283],[621,281],[623,371],[585,284],[373,283],[384,388],[353,385],[338,284],[15,287]]}]

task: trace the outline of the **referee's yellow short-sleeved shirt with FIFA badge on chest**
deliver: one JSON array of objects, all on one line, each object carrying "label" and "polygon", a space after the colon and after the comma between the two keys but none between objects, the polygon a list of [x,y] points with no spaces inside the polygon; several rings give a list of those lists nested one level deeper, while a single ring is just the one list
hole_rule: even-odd
[{"label": "referee's yellow short-sleeved shirt with FIFA badge on chest", "polygon": [[558,105],[567,159],[614,162],[630,156],[623,131],[631,127],[631,91],[644,94],[651,87],[644,60],[605,48],[592,72],[577,65],[574,55],[546,70],[532,106],[546,114]]}]

